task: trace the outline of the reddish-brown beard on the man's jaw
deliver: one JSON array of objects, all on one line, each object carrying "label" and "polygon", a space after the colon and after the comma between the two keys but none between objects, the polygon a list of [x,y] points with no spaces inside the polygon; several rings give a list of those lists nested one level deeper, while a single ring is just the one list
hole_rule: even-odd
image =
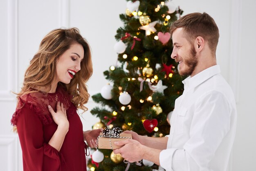
[{"label": "reddish-brown beard on the man's jaw", "polygon": [[187,68],[186,68],[186,70],[180,71],[179,67],[178,67],[179,74],[180,75],[191,75],[192,72],[195,70],[195,67],[198,64],[198,59],[196,57],[196,51],[195,51],[195,48],[193,46],[190,49],[190,54],[189,54],[188,58],[183,59],[182,62],[184,62],[183,66],[185,67],[185,65],[186,65]]}]

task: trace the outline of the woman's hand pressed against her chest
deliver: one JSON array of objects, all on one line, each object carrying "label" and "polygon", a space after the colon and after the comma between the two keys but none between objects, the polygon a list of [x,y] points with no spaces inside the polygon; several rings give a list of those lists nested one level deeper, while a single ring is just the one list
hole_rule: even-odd
[{"label": "woman's hand pressed against her chest", "polygon": [[48,110],[52,114],[52,118],[54,122],[59,126],[65,126],[67,129],[69,128],[69,122],[67,120],[67,113],[66,109],[63,107],[63,103],[60,103],[59,101],[56,104],[57,111],[54,112],[52,109],[52,106],[48,105]]}]

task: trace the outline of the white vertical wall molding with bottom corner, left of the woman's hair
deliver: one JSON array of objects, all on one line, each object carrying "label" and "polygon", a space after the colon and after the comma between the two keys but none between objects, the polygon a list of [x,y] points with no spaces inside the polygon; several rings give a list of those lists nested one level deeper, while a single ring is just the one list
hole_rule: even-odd
[{"label": "white vertical wall molding with bottom corner, left of the woman's hair", "polygon": [[11,90],[18,90],[18,0],[8,0],[7,10],[7,90],[0,90],[0,101],[13,101]]}]

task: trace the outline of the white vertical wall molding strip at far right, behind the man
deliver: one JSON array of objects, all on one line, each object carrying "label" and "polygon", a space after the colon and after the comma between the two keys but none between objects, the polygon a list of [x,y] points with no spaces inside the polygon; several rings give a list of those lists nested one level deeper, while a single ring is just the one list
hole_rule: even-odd
[{"label": "white vertical wall molding strip at far right, behind the man", "polygon": [[236,103],[239,101],[239,71],[240,71],[240,42],[241,42],[241,0],[231,1],[231,27],[230,27],[230,64],[229,82],[234,92]]}]

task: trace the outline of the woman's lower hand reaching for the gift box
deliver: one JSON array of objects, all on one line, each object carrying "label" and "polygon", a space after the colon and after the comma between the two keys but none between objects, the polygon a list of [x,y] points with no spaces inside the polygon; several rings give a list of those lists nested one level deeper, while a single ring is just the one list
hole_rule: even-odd
[{"label": "woman's lower hand reaching for the gift box", "polygon": [[101,133],[103,129],[93,129],[93,130],[88,130],[83,132],[83,140],[87,142],[89,147],[95,148],[96,147],[96,142],[99,134]]}]

